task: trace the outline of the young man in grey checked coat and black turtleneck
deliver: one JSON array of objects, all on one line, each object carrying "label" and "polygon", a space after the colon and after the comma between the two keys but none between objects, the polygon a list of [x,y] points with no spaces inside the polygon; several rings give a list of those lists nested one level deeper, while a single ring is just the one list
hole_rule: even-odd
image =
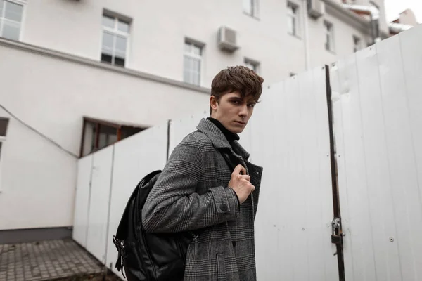
[{"label": "young man in grey checked coat and black turtleneck", "polygon": [[[212,81],[211,117],[170,156],[143,207],[150,233],[200,230],[186,253],[184,280],[256,280],[254,220],[262,168],[237,142],[262,93],[262,77],[228,67]],[[234,170],[222,156],[229,152]]]}]

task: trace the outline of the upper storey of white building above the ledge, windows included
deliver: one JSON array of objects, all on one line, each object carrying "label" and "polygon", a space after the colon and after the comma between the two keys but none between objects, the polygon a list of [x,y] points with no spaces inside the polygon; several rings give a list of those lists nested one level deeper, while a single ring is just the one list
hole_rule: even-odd
[{"label": "upper storey of white building above the ledge, windows included", "polygon": [[[253,65],[273,83],[371,44],[368,21],[340,0],[1,2],[4,37],[205,87],[226,65]],[[236,51],[220,50],[220,27],[234,30]]]}]

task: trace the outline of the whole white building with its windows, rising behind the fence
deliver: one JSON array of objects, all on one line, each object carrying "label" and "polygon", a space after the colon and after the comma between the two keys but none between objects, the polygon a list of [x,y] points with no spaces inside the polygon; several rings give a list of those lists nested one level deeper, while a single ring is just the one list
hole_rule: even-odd
[{"label": "whole white building with its windows, rising behind the fence", "polygon": [[77,157],[206,110],[228,65],[269,85],[369,46],[346,2],[0,0],[0,230],[72,226]]}]

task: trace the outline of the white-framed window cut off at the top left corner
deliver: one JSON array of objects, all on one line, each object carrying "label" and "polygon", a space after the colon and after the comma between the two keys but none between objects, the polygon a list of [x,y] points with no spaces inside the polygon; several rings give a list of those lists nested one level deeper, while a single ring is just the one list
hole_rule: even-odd
[{"label": "white-framed window cut off at the top left corner", "polygon": [[0,37],[19,40],[23,5],[18,1],[0,0]]}]

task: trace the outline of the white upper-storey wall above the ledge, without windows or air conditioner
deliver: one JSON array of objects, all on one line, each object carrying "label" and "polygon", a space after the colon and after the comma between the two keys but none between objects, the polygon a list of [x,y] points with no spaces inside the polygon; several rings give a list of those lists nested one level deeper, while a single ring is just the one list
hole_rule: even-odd
[{"label": "white upper-storey wall above the ledge, without windows or air conditioner", "polygon": [[[184,38],[205,44],[202,86],[209,86],[214,75],[228,65],[243,64],[244,57],[261,63],[260,74],[266,84],[305,70],[303,22],[301,37],[287,33],[286,0],[260,0],[259,18],[243,13],[242,1],[28,1],[25,7],[22,40],[29,44],[100,60],[101,15],[103,8],[133,19],[127,67],[181,81],[183,79]],[[304,1],[292,0],[306,13]],[[329,17],[329,15],[327,15]],[[343,19],[338,19],[342,21]],[[302,21],[302,19],[301,19]],[[338,53],[327,55],[324,49],[322,21],[312,24],[309,34],[312,56],[331,63],[352,53],[352,34],[337,40]],[[337,22],[333,22],[337,25]],[[226,25],[238,34],[236,53],[217,48],[217,30]],[[337,25],[338,26],[338,25]],[[336,27],[338,28],[338,27]],[[340,35],[340,29],[338,29]],[[320,42],[321,41],[321,42]],[[344,47],[343,47],[344,46]],[[317,50],[317,51],[315,51]],[[343,51],[344,50],[344,51]],[[325,62],[324,60],[324,62]],[[312,63],[316,67],[320,61]]]}]

